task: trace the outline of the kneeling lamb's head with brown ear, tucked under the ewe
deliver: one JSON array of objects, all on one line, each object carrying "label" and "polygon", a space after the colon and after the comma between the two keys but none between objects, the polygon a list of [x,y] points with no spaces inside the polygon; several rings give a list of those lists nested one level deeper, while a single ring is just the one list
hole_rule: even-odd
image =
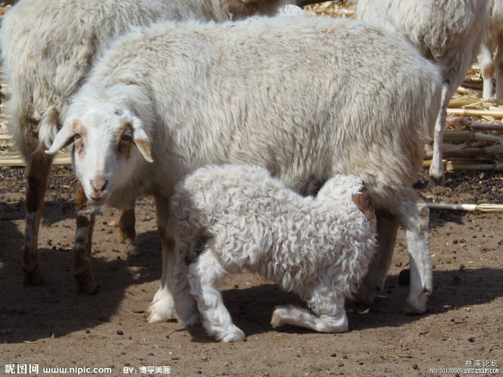
[{"label": "kneeling lamb's head with brown ear, tucked under the ewe", "polygon": [[330,200],[347,206],[353,202],[365,215],[368,221],[375,221],[372,196],[365,183],[353,175],[334,175],[321,187],[316,200]]}]

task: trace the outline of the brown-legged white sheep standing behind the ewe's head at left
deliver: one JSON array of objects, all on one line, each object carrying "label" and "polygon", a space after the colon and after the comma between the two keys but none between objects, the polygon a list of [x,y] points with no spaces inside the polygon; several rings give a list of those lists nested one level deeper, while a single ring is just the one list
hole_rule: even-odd
[{"label": "brown-legged white sheep standing behind the ewe's head at left", "polygon": [[[133,26],[159,18],[224,21],[255,12],[269,13],[280,0],[22,0],[2,21],[2,60],[12,88],[7,111],[10,132],[27,164],[25,284],[40,284],[38,227],[52,158],[43,150],[60,128],[67,99],[81,85],[102,52]],[[134,239],[134,201],[125,209],[119,240]],[[95,208],[77,185],[72,273],[78,290],[96,292],[91,270]]]}]

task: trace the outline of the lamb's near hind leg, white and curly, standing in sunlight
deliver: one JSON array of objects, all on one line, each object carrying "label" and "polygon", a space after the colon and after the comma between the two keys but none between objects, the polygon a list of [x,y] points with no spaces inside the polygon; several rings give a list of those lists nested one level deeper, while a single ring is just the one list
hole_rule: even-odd
[{"label": "lamb's near hind leg, white and curly, standing in sunlight", "polygon": [[213,255],[213,247],[207,244],[206,250],[189,267],[191,294],[196,298],[203,326],[209,335],[215,335],[221,342],[241,341],[244,333],[232,323],[218,289],[227,272]]}]

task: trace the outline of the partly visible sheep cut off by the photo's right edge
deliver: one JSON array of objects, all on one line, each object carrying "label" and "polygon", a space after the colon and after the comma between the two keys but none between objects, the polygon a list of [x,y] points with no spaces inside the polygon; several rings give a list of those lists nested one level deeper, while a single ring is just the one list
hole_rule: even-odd
[{"label": "partly visible sheep cut off by the photo's right edge", "polygon": [[[492,78],[496,79],[495,98],[503,99],[503,2],[490,2],[490,18],[487,32],[480,44],[478,62],[484,79],[484,98],[492,97]],[[492,51],[496,50],[494,59]]]}]

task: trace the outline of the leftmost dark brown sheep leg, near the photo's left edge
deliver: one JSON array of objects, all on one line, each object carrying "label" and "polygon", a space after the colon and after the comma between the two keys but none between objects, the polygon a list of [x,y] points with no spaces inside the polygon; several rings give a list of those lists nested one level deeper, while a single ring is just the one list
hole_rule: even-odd
[{"label": "leftmost dark brown sheep leg, near the photo's left edge", "polygon": [[28,187],[26,190],[25,244],[23,247],[22,268],[24,284],[38,285],[43,282],[38,251],[38,229],[47,191],[47,178],[52,158],[42,153],[25,154],[27,163]]}]

